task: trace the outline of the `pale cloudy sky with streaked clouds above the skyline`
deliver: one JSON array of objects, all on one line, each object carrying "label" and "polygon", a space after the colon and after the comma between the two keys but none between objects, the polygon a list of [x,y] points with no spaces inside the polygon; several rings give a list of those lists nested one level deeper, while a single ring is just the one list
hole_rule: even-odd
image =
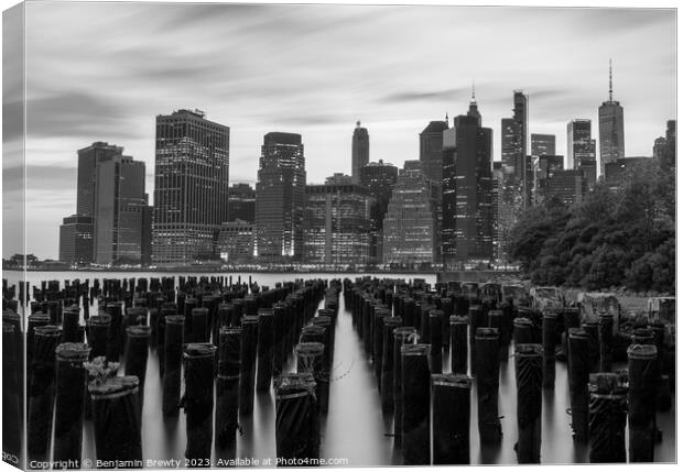
[{"label": "pale cloudy sky with streaked clouds above the skyline", "polygon": [[[230,127],[230,182],[251,184],[270,131],[302,134],[310,183],[350,173],[356,121],[370,161],[402,166],[431,120],[467,111],[473,81],[495,161],[516,89],[530,132],[555,134],[559,154],[572,119],[592,119],[597,138],[610,58],[627,156],[652,155],[676,111],[671,9],[54,1],[29,2],[25,28],[25,250],[41,259],[58,256],[76,209],[76,151],[123,146],[145,162],[153,200],[154,120],[181,108]],[[8,74],[11,52],[4,61]],[[8,110],[21,108],[19,85],[4,80]],[[21,129],[3,132],[13,228]],[[3,231],[3,256],[22,251]]]}]

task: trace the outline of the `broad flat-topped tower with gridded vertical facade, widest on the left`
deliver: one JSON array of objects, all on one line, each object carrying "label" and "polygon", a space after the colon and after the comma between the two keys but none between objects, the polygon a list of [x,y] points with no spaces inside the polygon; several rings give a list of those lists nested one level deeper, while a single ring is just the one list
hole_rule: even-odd
[{"label": "broad flat-topped tower with gridded vertical facade, widest on the left", "polygon": [[203,111],[156,117],[154,264],[214,256],[214,234],[228,221],[230,129]]}]

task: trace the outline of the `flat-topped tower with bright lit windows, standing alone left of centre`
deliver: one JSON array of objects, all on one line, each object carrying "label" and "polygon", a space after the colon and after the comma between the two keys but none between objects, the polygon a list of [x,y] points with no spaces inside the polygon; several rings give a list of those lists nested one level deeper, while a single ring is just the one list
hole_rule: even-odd
[{"label": "flat-topped tower with bright lit windows, standing alone left of centre", "polygon": [[305,190],[301,134],[265,134],[257,182],[256,252],[259,257],[273,262],[301,257]]}]

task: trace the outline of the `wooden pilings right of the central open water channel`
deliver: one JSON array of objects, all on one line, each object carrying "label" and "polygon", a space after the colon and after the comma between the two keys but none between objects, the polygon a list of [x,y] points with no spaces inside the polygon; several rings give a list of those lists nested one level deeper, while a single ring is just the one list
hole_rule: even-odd
[{"label": "wooden pilings right of the central open water channel", "polygon": [[[470,389],[476,384],[483,444],[502,438],[500,363],[514,345],[519,463],[541,462],[542,391],[555,385],[556,356],[568,359],[571,426],[590,462],[651,462],[655,409],[671,406],[662,375],[661,325],[633,331],[628,369],[612,372],[612,316],[581,320],[576,308],[528,307],[467,298],[436,284],[344,281],[346,306],[377,374],[382,409],[393,413],[404,464],[470,463]],[[498,305],[498,306],[497,306]],[[443,356],[451,355],[451,372]],[[467,375],[469,367],[469,376]]]}]

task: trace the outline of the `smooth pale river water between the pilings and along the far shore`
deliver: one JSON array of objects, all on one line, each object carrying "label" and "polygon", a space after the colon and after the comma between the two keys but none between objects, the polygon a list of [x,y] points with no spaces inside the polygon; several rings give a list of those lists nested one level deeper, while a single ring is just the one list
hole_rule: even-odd
[{"label": "smooth pale river water between the pilings and along the far shore", "polygon": [[[163,273],[131,272],[29,272],[28,281],[40,286],[40,281],[115,277],[161,277]],[[249,275],[259,285],[274,286],[277,282],[295,278],[355,278],[360,274],[183,274],[183,275],[232,275],[234,282],[241,276],[242,282]],[[390,274],[391,278],[424,278],[433,284],[435,275]],[[7,271],[3,277],[10,285],[24,277],[23,273]],[[321,306],[322,308],[322,306]],[[94,311],[91,311],[94,312]],[[394,449],[393,419],[381,411],[380,397],[375,382],[372,365],[367,361],[361,341],[353,329],[350,311],[346,309],[344,297],[339,296],[339,316],[337,319],[335,353],[330,382],[329,411],[322,424],[321,457],[345,460],[353,466],[372,466],[402,464],[400,450]],[[510,351],[512,352],[512,351]],[[288,371],[295,367],[292,358]],[[444,372],[449,372],[449,355],[444,355]],[[142,450],[145,464],[150,460],[176,459],[184,463],[185,416],[164,418],[161,411],[162,383],[159,376],[156,352],[150,351],[145,378],[144,406],[142,411]],[[184,391],[184,387],[183,387]],[[495,447],[479,447],[477,429],[476,383],[471,391],[470,451],[473,464],[517,464],[514,443],[517,441],[517,387],[514,362],[510,359],[500,366],[499,414],[502,416],[502,441]],[[570,391],[566,364],[556,364],[555,389],[543,392],[542,448],[541,462],[546,464],[568,464],[587,462],[588,451],[585,446],[574,443],[570,408]],[[257,395],[253,414],[239,419],[242,428],[237,439],[238,458],[259,460],[259,465],[274,465],[275,458],[275,407],[274,395]],[[662,441],[655,446],[655,462],[674,462],[675,448],[675,402],[674,408],[658,413],[658,427],[662,430]],[[628,441],[628,428],[627,428]],[[628,442],[627,442],[628,444]],[[86,420],[84,433],[84,459],[94,461],[95,439],[93,424]],[[215,461],[216,458],[214,458]],[[216,462],[214,462],[216,464]]]}]

